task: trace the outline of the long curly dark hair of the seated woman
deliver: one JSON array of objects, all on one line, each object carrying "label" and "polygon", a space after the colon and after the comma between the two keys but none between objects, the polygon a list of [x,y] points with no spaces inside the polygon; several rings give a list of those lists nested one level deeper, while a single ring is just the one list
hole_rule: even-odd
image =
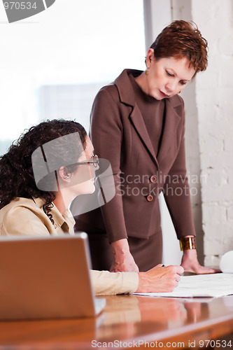
[{"label": "long curly dark hair of the seated woman", "polygon": [[[74,132],[79,134],[79,144],[77,139],[75,145],[70,140],[69,142],[64,140],[66,144],[63,142],[63,145],[59,147],[59,152],[57,152],[57,148],[50,150],[54,157],[59,158],[60,166],[64,165],[65,161],[65,164],[71,165],[67,167],[69,171],[73,172],[76,169],[76,165],[73,165],[73,163],[78,161],[80,154],[85,150],[87,137],[84,127],[76,121],[47,120],[31,127],[10,146],[8,153],[0,158],[0,209],[16,197],[30,199],[41,197],[45,200],[43,206],[45,214],[53,223],[52,215],[49,212],[52,201],[55,200],[55,192],[40,190],[39,186],[36,186],[31,155],[37,148],[47,142]],[[78,150],[76,160],[73,159],[73,152],[71,151],[73,149]],[[50,174],[48,174],[48,178],[49,176]],[[49,179],[47,180],[49,181]]]}]

